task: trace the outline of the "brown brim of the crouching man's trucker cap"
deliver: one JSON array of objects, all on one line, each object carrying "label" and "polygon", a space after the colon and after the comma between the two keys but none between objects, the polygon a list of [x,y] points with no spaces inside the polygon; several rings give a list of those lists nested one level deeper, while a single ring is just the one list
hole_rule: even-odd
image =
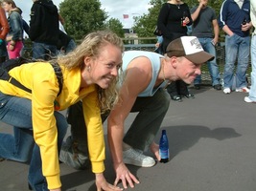
[{"label": "brown brim of the crouching man's trucker cap", "polygon": [[192,53],[189,55],[184,55],[188,60],[192,61],[194,64],[203,64],[207,61],[211,61],[214,59],[214,56],[210,53],[206,53],[204,51],[198,53]]}]

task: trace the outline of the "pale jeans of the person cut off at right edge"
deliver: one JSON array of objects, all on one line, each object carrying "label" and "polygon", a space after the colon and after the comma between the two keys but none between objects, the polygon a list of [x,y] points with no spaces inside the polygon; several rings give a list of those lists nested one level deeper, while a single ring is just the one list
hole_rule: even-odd
[{"label": "pale jeans of the person cut off at right edge", "polygon": [[256,101],[256,35],[252,35],[251,38],[251,86],[249,92],[249,98],[253,101]]}]

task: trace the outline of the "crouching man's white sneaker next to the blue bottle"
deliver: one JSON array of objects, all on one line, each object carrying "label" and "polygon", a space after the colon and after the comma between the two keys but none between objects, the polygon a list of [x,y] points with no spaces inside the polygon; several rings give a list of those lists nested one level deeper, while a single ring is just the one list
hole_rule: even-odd
[{"label": "crouching man's white sneaker next to the blue bottle", "polygon": [[155,160],[151,157],[143,155],[143,152],[133,148],[123,151],[124,163],[141,167],[151,167],[155,164]]}]

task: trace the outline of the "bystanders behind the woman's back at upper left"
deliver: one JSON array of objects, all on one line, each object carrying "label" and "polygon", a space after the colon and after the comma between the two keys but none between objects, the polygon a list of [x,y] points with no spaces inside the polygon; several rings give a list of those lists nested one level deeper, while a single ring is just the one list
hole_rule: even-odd
[{"label": "bystanders behind the woman's back at upper left", "polygon": [[74,39],[65,32],[62,25],[64,19],[54,3],[41,0],[33,2],[28,24],[14,1],[1,1],[1,62],[22,55],[24,32],[33,42],[34,59],[49,60],[58,53],[68,53],[76,47]]}]

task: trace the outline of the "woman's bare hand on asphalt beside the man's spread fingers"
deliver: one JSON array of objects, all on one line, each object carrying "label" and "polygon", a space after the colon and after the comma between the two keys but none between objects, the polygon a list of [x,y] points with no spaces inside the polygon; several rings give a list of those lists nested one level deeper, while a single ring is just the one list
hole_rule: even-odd
[{"label": "woman's bare hand on asphalt beside the man's spread fingers", "polygon": [[108,183],[105,180],[104,174],[103,173],[96,173],[95,174],[96,177],[96,186],[97,186],[97,191],[120,191],[123,190],[122,188],[112,185],[110,183]]}]

